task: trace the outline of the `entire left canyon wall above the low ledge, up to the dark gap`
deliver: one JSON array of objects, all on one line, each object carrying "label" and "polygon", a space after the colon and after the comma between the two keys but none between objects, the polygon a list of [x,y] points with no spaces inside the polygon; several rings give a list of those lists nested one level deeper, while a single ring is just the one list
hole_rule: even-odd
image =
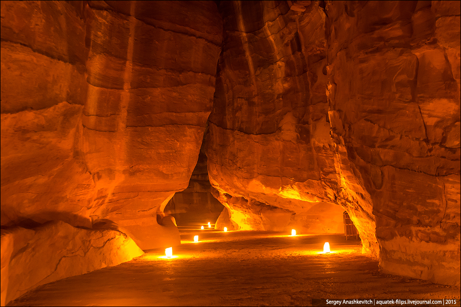
[{"label": "entire left canyon wall above the low ledge, up to the dark gap", "polygon": [[2,2],[2,226],[106,218],[179,244],[162,211],[197,162],[221,33],[213,2]]}]

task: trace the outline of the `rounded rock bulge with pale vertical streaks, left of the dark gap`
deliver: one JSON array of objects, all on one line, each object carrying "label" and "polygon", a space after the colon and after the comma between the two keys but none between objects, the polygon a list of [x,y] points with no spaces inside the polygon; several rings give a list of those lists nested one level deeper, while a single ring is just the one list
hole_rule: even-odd
[{"label": "rounded rock bulge with pale vertical streaks, left of the dark gap", "polygon": [[[213,2],[90,3],[79,150],[95,182],[93,214],[142,249],[164,246],[152,217],[187,188],[197,163],[221,32]],[[165,235],[179,244],[177,231]]]}]

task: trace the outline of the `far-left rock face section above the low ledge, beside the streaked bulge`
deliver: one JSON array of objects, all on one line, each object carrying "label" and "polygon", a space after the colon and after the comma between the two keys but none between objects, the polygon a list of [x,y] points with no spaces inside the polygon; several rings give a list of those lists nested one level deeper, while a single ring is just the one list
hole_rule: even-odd
[{"label": "far-left rock face section above the low ledge, beside the streaked bulge", "polygon": [[74,152],[87,97],[83,8],[1,6],[1,224],[91,227],[78,200],[91,198],[93,180]]}]

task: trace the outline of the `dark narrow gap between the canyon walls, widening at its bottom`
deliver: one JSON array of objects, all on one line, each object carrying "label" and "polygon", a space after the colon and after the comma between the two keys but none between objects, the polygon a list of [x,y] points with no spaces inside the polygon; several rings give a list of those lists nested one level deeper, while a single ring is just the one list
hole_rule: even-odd
[{"label": "dark narrow gap between the canyon walls, widening at its bottom", "polygon": [[[204,136],[207,135],[205,130]],[[166,205],[164,212],[172,214],[178,225],[194,223],[215,224],[223,210],[222,204],[211,193],[205,155],[205,142],[202,142],[197,165],[192,172],[187,189],[177,192]]]}]

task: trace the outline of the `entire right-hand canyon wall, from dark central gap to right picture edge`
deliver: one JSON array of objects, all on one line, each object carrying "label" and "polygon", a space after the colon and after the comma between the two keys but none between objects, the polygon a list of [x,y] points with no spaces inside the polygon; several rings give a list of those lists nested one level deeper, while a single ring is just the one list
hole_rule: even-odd
[{"label": "entire right-hand canyon wall, from dark central gap to right picture edge", "polygon": [[459,285],[459,2],[219,9],[217,228],[336,232],[344,208],[385,272]]}]

